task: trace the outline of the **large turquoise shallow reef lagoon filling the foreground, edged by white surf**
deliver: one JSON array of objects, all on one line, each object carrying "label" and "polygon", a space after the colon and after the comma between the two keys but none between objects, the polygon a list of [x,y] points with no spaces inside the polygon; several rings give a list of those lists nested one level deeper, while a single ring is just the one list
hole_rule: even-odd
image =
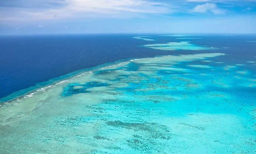
[{"label": "large turquoise shallow reef lagoon filling the foreground, edged by white surf", "polygon": [[1,153],[255,153],[255,74],[225,56],[117,62],[4,102]]}]

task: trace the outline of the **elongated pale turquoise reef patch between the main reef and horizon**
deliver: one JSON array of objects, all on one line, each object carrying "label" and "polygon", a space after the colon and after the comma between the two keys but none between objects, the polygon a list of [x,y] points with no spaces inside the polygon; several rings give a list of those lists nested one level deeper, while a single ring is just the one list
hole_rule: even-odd
[{"label": "elongated pale turquoise reef patch between the main reef and horizon", "polygon": [[192,44],[187,41],[182,42],[169,42],[163,44],[148,44],[144,47],[159,49],[159,50],[211,50],[216,49],[214,47],[200,46],[197,44]]}]

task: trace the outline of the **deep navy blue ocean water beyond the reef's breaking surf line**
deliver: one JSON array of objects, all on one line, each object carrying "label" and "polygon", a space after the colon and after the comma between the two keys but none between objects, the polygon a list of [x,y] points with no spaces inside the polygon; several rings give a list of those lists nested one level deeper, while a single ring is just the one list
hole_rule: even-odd
[{"label": "deep navy blue ocean water beyond the reef's breaking surf line", "polygon": [[[152,36],[155,41],[135,39]],[[191,36],[189,36],[191,37]],[[154,57],[192,53],[225,53],[216,57],[226,64],[248,64],[255,61],[256,35],[199,35],[191,43],[218,48],[216,50],[164,51],[142,47],[152,43],[186,41],[158,34],[87,34],[0,37],[0,100],[6,101],[43,86],[57,78],[84,68],[92,68],[127,58]],[[225,58],[225,59],[222,59]],[[217,65],[217,64],[216,64]],[[255,73],[255,65],[247,65]],[[34,87],[33,87],[34,86]],[[28,89],[32,87],[31,89]],[[21,91],[22,89],[26,89]],[[12,93],[11,97],[4,98]],[[1,99],[2,98],[2,99]]]}]

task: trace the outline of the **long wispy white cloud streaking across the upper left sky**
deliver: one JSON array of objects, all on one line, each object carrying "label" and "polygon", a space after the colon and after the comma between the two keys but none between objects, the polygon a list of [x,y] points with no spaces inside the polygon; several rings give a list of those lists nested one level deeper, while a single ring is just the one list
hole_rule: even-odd
[{"label": "long wispy white cloud streaking across the upper left sky", "polygon": [[[40,1],[37,1],[40,3]],[[58,7],[54,4],[58,2]],[[44,1],[42,1],[44,3]],[[123,14],[161,14],[170,12],[170,5],[147,0],[52,0],[38,9],[21,4],[2,7],[2,20],[76,19],[94,16],[122,16]],[[14,12],[13,14],[8,14]]]}]

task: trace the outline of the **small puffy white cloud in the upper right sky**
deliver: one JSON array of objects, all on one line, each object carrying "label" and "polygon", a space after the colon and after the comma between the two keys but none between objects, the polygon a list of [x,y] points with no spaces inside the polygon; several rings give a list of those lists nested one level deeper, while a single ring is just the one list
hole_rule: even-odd
[{"label": "small puffy white cloud in the upper right sky", "polygon": [[214,14],[223,14],[224,11],[221,9],[218,9],[216,4],[213,3],[206,3],[202,5],[197,5],[192,12],[197,12],[197,13],[206,13],[207,11],[210,11]]}]

